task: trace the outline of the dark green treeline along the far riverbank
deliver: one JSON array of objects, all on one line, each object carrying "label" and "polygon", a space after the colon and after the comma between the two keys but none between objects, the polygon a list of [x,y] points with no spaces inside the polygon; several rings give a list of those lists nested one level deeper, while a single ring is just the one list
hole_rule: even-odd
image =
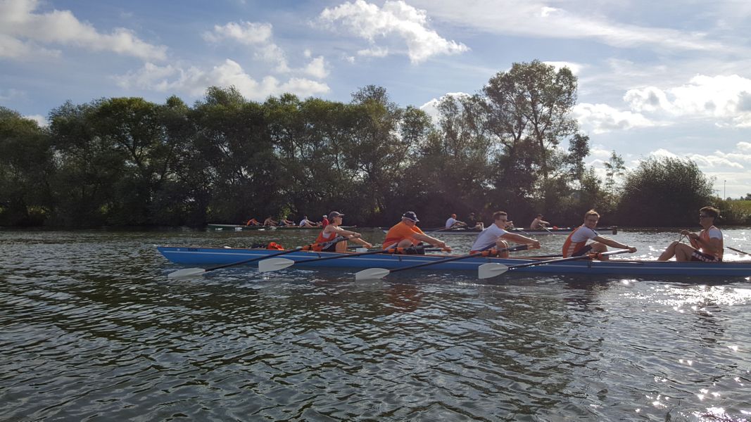
[{"label": "dark green treeline along the far riverbank", "polygon": [[258,103],[218,87],[192,107],[103,98],[63,104],[44,128],[0,107],[0,225],[199,227],[333,209],[357,225],[406,210],[427,225],[451,213],[487,220],[497,209],[575,225],[595,208],[603,224],[655,226],[695,223],[698,207],[717,203],[691,161],[626,173],[613,152],[599,179],[571,118],[576,92],[568,68],[535,61],[446,98],[435,124],[377,86],[349,103]]}]

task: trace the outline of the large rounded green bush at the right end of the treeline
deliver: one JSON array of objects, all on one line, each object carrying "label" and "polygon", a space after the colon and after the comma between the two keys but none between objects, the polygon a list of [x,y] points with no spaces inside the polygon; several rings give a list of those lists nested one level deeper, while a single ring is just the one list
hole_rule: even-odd
[{"label": "large rounded green bush at the right end of the treeline", "polygon": [[623,225],[696,225],[698,209],[716,203],[713,180],[695,162],[648,158],[626,176],[619,216]]}]

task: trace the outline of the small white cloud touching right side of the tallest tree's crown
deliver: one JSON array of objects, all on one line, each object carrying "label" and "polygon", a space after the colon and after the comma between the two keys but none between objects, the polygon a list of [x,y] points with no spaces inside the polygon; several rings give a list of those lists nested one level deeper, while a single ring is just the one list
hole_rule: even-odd
[{"label": "small white cloud touching right side of the tallest tree's crown", "polygon": [[640,113],[620,111],[608,104],[577,104],[573,114],[581,127],[592,131],[593,134],[664,125],[664,123],[653,122]]}]

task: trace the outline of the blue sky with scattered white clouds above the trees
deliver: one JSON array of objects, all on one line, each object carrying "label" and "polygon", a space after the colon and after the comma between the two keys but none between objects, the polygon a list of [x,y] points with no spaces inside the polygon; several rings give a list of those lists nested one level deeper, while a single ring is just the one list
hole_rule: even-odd
[{"label": "blue sky with scattered white clouds above the trees", "polygon": [[367,85],[434,113],[513,63],[578,77],[573,116],[603,174],[615,151],[690,158],[720,197],[751,193],[746,0],[0,0],[0,105],[42,124],[65,101],[351,101]]}]

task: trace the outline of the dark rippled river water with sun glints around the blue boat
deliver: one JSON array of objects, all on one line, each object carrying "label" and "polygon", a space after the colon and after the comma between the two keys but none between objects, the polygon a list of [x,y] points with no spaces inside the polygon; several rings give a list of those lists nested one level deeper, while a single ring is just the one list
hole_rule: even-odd
[{"label": "dark rippled river water with sun glints around the blue boat", "polygon": [[[724,233],[751,252],[751,231]],[[0,420],[751,420],[749,279],[173,280],[155,249],[314,237],[0,231]],[[677,234],[615,238],[647,258]]]}]

